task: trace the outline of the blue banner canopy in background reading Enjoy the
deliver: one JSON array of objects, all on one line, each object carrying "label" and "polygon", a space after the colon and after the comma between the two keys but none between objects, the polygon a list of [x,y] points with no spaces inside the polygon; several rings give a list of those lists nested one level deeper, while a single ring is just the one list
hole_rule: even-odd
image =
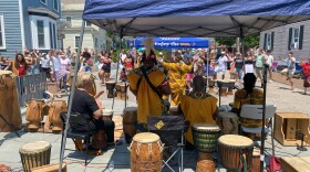
[{"label": "blue banner canopy in background reading Enjoy the", "polygon": [[[130,40],[131,47],[143,47],[143,41],[146,37]],[[208,47],[209,42],[200,37],[154,37],[155,49],[198,49]]]}]

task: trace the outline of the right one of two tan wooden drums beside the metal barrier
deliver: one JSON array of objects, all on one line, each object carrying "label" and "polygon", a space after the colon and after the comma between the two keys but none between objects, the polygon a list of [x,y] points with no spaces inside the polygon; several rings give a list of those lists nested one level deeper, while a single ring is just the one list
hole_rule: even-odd
[{"label": "right one of two tan wooden drums beside the metal barrier", "polygon": [[66,111],[66,101],[65,100],[53,100],[50,105],[49,110],[49,120],[53,125],[52,130],[54,132],[62,131],[62,121],[60,118],[61,112]]}]

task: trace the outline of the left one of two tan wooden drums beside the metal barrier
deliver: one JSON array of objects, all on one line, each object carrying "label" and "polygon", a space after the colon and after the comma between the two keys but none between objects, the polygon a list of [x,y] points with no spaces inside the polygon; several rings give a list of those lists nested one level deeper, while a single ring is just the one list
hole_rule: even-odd
[{"label": "left one of two tan wooden drums beside the metal barrier", "polygon": [[27,104],[27,129],[38,130],[43,121],[45,101],[43,99],[30,99]]}]

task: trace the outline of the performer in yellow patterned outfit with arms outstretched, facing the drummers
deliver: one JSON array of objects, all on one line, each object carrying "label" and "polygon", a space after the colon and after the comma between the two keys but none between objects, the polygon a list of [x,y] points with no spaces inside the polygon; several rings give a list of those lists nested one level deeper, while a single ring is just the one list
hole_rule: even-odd
[{"label": "performer in yellow patterned outfit with arms outstretched, facing the drummers", "polygon": [[172,88],[170,104],[178,106],[180,96],[185,94],[186,89],[186,74],[193,69],[193,65],[187,65],[183,62],[180,53],[176,52],[173,56],[172,63],[161,62],[163,67],[168,72],[169,85]]}]

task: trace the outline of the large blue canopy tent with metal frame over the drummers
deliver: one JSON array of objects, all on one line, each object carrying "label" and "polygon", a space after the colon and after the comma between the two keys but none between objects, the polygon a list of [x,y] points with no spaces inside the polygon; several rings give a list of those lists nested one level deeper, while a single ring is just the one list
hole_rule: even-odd
[{"label": "large blue canopy tent with metal frame over the drummers", "polygon": [[[85,0],[78,56],[81,52],[85,21],[117,33],[121,37],[123,35],[239,36],[242,43],[245,35],[309,20],[309,14],[310,1],[308,0]],[[78,58],[76,63],[80,63]],[[74,67],[75,74],[78,66]],[[118,69],[116,78],[117,74]],[[71,115],[75,82],[76,75],[73,77],[66,121]],[[264,104],[264,108],[265,106]],[[68,126],[64,130],[60,164],[63,162],[66,129]],[[261,132],[265,132],[264,128]],[[261,140],[261,171],[264,143]]]}]

